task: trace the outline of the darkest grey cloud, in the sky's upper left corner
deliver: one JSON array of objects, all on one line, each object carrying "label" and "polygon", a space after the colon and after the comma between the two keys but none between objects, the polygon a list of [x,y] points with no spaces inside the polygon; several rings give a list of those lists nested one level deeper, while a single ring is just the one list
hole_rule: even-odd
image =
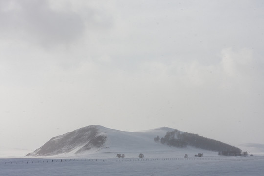
[{"label": "darkest grey cloud, in the sky's upper left corner", "polygon": [[84,19],[80,15],[73,11],[54,11],[47,0],[1,3],[0,39],[23,40],[49,48],[70,44],[85,31]]}]

